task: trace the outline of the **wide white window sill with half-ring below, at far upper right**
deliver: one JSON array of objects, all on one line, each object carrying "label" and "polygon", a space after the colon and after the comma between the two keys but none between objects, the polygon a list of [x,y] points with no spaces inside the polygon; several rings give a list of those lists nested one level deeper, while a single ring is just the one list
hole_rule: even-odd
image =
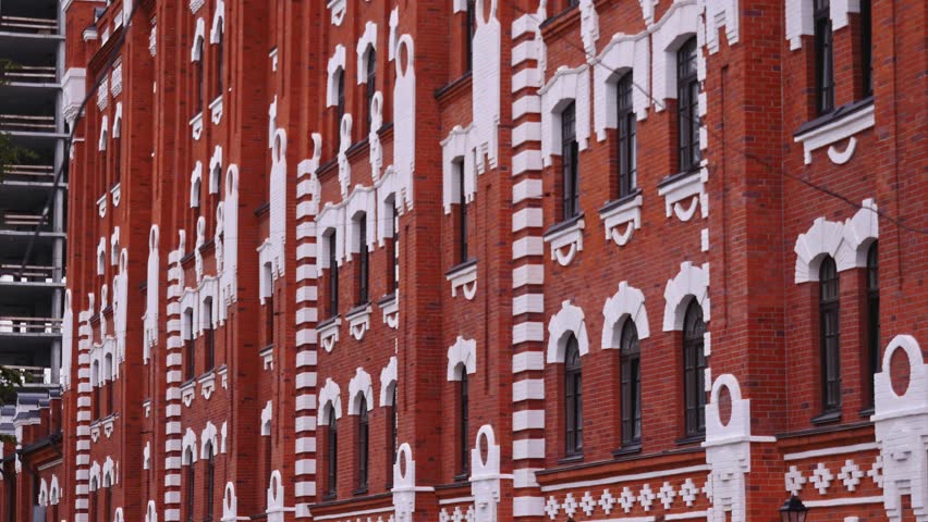
[{"label": "wide white window sill with half-ring below, at far upper right", "polygon": [[[813,151],[822,147],[828,147],[828,159],[832,163],[842,165],[851,160],[857,147],[857,138],[853,135],[875,124],[874,98],[865,98],[804,123],[793,134],[793,141],[803,144],[803,161],[807,165],[811,163]],[[839,151],[834,144],[844,139],[848,140],[847,145]]]}]

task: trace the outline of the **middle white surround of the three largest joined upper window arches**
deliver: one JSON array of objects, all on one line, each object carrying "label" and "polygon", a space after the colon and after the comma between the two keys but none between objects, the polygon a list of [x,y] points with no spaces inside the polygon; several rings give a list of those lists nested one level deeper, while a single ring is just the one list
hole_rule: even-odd
[{"label": "middle white surround of the three largest joined upper window arches", "polygon": [[[626,73],[632,72],[635,84],[632,105],[638,121],[648,116],[650,105],[650,40],[647,33],[623,35],[616,33],[593,62],[594,126],[596,139],[606,139],[607,128],[619,127],[618,86]],[[644,92],[642,91],[644,89]]]}]

